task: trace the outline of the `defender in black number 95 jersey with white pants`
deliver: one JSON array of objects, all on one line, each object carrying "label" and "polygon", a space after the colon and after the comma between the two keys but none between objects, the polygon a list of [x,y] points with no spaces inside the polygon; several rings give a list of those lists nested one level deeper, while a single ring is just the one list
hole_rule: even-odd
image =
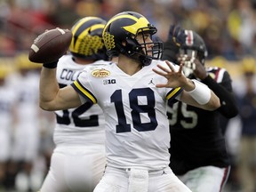
[{"label": "defender in black number 95 jersey with white pants", "polygon": [[225,68],[205,67],[207,49],[195,31],[172,25],[164,44],[163,59],[182,64],[185,76],[208,85],[221,103],[214,111],[180,101],[169,103],[170,166],[192,191],[220,192],[230,169],[220,117],[231,118],[238,113],[231,78]]}]

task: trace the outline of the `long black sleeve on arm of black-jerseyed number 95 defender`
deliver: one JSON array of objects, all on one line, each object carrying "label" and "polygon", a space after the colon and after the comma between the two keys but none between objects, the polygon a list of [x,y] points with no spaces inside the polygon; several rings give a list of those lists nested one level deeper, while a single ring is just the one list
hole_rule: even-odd
[{"label": "long black sleeve on arm of black-jerseyed number 95 defender", "polygon": [[236,99],[232,92],[231,81],[228,83],[229,88],[225,88],[208,75],[204,80],[202,80],[202,83],[208,85],[208,87],[212,89],[212,92],[220,98],[221,106],[217,109],[220,111],[220,114],[227,118],[232,118],[238,114]]}]

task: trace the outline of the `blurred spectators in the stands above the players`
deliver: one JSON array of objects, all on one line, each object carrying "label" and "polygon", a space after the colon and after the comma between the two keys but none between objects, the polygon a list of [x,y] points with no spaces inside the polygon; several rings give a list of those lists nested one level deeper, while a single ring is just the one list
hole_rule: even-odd
[{"label": "blurred spectators in the stands above the players", "polygon": [[0,54],[28,50],[45,28],[70,28],[92,15],[108,20],[117,12],[141,12],[166,39],[170,23],[204,37],[210,57],[237,60],[255,54],[255,0],[1,0]]}]

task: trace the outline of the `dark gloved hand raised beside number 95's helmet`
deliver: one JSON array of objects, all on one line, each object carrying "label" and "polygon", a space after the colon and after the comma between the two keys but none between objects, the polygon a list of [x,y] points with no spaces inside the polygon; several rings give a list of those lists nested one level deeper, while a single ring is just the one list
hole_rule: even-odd
[{"label": "dark gloved hand raised beside number 95's helmet", "polygon": [[185,34],[185,30],[183,28],[180,28],[180,26],[171,25],[171,28],[169,30],[169,39],[172,39],[172,41],[180,47],[181,44],[184,44],[186,41],[187,35]]}]

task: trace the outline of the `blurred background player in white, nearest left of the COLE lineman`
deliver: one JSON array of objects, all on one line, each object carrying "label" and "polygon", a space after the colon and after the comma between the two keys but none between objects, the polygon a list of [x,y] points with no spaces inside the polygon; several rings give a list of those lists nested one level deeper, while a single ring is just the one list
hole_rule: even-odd
[{"label": "blurred background player in white, nearest left of the COLE lineman", "polygon": [[26,191],[34,188],[32,180],[40,149],[42,109],[38,108],[39,71],[38,65],[28,60],[27,52],[16,57],[15,66],[17,73],[13,73],[8,79],[8,84],[16,95],[16,124],[12,135],[9,173],[13,173],[13,180],[10,181],[15,181],[15,188]]}]

